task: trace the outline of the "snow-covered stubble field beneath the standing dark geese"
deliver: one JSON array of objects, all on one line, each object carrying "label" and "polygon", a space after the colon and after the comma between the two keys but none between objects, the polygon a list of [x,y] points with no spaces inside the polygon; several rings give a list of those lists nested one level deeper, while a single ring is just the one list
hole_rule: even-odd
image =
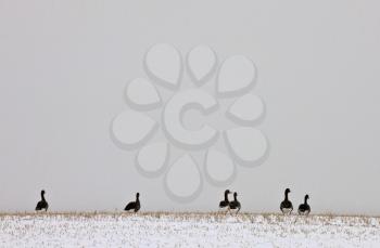
[{"label": "snow-covered stubble field beneath the standing dark geese", "polygon": [[0,247],[380,247],[380,218],[251,213],[0,214]]}]

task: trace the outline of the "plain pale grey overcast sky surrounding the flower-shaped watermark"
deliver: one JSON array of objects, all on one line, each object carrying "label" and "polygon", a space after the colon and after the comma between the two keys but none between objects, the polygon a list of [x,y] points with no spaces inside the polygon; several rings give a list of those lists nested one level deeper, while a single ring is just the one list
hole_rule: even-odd
[{"label": "plain pale grey overcast sky surrounding the flower-shaped watermark", "polygon": [[214,210],[224,187],[191,204],[147,179],[110,139],[144,52],[199,43],[250,56],[266,104],[270,154],[229,186],[243,210],[278,211],[283,188],[315,212],[380,214],[379,1],[0,0],[0,211]]}]

